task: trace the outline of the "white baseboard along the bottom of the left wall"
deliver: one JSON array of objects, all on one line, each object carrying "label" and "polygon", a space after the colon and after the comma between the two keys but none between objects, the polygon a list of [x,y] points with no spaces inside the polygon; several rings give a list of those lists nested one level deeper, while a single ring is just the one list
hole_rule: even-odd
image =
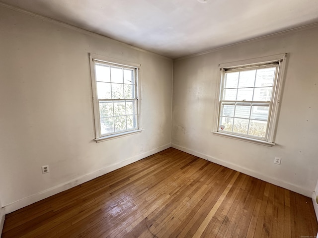
[{"label": "white baseboard along the bottom of the left wall", "polygon": [[95,171],[95,172],[92,172],[92,173],[89,173],[89,174],[86,174],[86,175],[83,175],[79,178],[76,178],[76,179],[72,179],[68,182],[65,182],[65,183],[62,183],[62,184],[59,184],[59,185],[56,185],[54,187],[51,187],[49,189],[46,189],[44,191],[41,191],[41,192],[38,192],[38,193],[35,193],[33,195],[30,195],[28,197],[25,197],[25,198],[22,198],[20,200],[17,200],[15,202],[12,202],[10,204],[7,204],[5,205],[5,213],[8,214],[10,212],[13,212],[13,211],[16,211],[22,207],[25,207],[25,206],[28,206],[32,203],[35,203],[37,201],[40,201],[44,198],[47,198],[47,197],[50,197],[52,195],[55,195],[59,192],[62,192],[62,191],[65,191],[67,189],[70,189],[72,187],[75,187],[81,183],[84,183],[84,182],[87,182],[91,179],[95,179],[99,176],[102,176],[102,175],[105,175],[109,172],[112,172],[114,170],[117,170],[121,167],[124,167],[126,165],[129,165],[129,164],[132,164],[138,160],[141,160],[141,159],[144,159],[150,155],[153,155],[153,154],[156,154],[162,150],[165,150],[167,148],[171,147],[171,143],[168,143],[168,144],[165,144],[165,145],[162,145],[156,149],[153,149],[153,150],[150,150],[150,151],[147,151],[147,152],[144,152],[142,154],[139,154],[139,155],[136,155],[134,157],[131,157],[129,159],[126,159],[124,161],[121,161],[119,163],[116,163],[116,164],[113,164],[113,165],[110,165],[110,166],[107,166],[105,168],[102,168],[98,171]]}]

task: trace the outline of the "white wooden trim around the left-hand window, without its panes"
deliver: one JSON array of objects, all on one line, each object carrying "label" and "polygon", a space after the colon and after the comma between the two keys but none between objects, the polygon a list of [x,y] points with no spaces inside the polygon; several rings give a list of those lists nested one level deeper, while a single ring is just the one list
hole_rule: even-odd
[{"label": "white wooden trim around the left-hand window, without its panes", "polygon": [[[107,63],[115,63],[123,66],[128,67],[135,67],[136,68],[136,94],[137,94],[137,107],[138,107],[138,128],[124,131],[124,132],[118,132],[111,135],[105,135],[102,136],[100,133],[100,122],[99,122],[99,105],[97,100],[97,87],[96,87],[96,79],[95,79],[95,60],[103,61]],[[141,97],[140,97],[140,70],[141,70],[141,64],[130,62],[127,60],[118,60],[111,57],[101,56],[93,53],[89,53],[89,63],[90,63],[90,76],[91,76],[91,85],[92,85],[92,99],[93,99],[93,111],[94,111],[94,126],[95,126],[95,141],[102,142],[105,140],[111,140],[119,137],[124,137],[127,135],[132,135],[136,133],[141,133],[144,129],[142,129],[142,120],[141,120]]]}]

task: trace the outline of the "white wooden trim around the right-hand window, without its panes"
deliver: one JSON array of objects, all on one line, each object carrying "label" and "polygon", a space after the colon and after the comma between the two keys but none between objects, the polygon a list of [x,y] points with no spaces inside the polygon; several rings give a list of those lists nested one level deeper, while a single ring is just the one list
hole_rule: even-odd
[{"label": "white wooden trim around the right-hand window, without its panes", "polygon": [[[261,58],[255,58],[250,60],[240,60],[235,62],[229,62],[229,63],[222,63],[219,64],[220,69],[220,76],[218,80],[218,85],[216,88],[216,99],[215,99],[215,120],[214,120],[214,127],[211,131],[215,135],[220,135],[228,138],[238,139],[242,141],[247,141],[251,143],[256,143],[260,145],[266,145],[266,146],[273,146],[275,145],[274,139],[275,139],[275,132],[276,132],[276,126],[278,121],[278,112],[279,112],[279,104],[281,99],[281,91],[282,91],[282,84],[284,79],[284,73],[285,73],[285,65],[286,65],[286,59],[287,54],[279,54],[274,56],[267,56],[267,57],[261,57]],[[250,65],[250,64],[258,64],[258,63],[266,63],[266,62],[273,62],[273,61],[280,61],[279,62],[279,72],[277,76],[276,81],[276,89],[275,94],[273,98],[273,105],[272,105],[272,112],[270,114],[269,118],[269,125],[268,125],[268,135],[267,140],[261,140],[261,139],[255,139],[255,138],[249,138],[244,137],[243,135],[234,135],[234,134],[228,134],[228,133],[222,133],[218,131],[218,121],[220,117],[220,96],[221,96],[221,82],[223,82],[223,68],[231,68],[231,67],[242,67],[244,65]]]}]

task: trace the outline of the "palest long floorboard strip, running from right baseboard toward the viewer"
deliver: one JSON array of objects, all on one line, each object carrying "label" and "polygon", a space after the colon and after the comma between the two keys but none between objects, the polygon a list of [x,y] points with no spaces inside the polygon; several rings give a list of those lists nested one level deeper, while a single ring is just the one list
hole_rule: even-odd
[{"label": "palest long floorboard strip, running from right baseboard toward the viewer", "polygon": [[225,197],[229,193],[231,187],[233,186],[234,182],[237,180],[238,177],[239,177],[239,172],[236,172],[236,174],[231,179],[231,181],[228,184],[228,186],[226,187],[226,189],[223,191],[223,193],[221,194],[221,196],[219,197],[219,199],[217,200],[215,205],[212,207],[212,209],[209,212],[209,214],[206,216],[204,221],[201,223],[200,227],[198,228],[198,230],[194,234],[193,238],[200,238],[201,237],[202,233],[207,228],[207,226],[208,226],[209,222],[211,221],[212,217],[214,216],[214,214],[216,213],[216,211],[220,207],[221,203],[223,202],[223,200],[225,199]]}]

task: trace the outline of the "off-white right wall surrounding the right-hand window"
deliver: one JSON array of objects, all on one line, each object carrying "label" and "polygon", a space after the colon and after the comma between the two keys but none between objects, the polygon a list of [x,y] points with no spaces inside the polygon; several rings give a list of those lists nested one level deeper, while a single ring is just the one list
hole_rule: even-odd
[{"label": "off-white right wall surrounding the right-hand window", "polygon": [[[309,197],[318,179],[318,25],[174,61],[172,146]],[[220,63],[289,53],[276,145],[214,135]],[[274,157],[281,157],[280,166]]]}]

